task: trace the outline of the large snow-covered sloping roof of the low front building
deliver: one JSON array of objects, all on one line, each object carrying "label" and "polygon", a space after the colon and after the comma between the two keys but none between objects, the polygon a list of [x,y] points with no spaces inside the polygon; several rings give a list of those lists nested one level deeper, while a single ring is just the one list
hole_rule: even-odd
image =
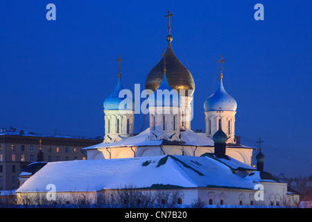
[{"label": "large snow-covered sloping roof of the low front building", "polygon": [[111,160],[49,162],[17,192],[98,191],[124,187],[226,187],[254,189],[252,180],[236,175],[216,158],[159,155]]}]

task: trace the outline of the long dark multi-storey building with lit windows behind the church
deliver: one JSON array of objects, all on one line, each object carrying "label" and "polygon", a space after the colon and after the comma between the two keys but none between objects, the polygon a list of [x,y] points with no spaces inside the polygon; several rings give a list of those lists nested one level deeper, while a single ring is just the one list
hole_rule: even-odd
[{"label": "long dark multi-storey building with lit windows behind the church", "polygon": [[[17,132],[15,128],[0,130],[0,191],[19,187],[19,173],[31,162],[37,161],[42,149],[44,162],[85,160],[81,148],[103,142],[103,137],[73,137],[37,135]],[[42,160],[41,160],[42,161]]]}]

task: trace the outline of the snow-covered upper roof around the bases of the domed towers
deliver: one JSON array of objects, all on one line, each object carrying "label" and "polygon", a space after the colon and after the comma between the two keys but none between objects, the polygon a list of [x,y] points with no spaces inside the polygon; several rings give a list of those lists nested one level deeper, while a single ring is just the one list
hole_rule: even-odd
[{"label": "snow-covered upper roof around the bases of the domed towers", "polygon": [[[168,144],[168,141],[163,140],[149,140],[148,135],[150,134],[150,128],[147,128],[143,132],[135,135],[133,137],[128,137],[123,140],[112,142],[112,143],[101,143],[94,146],[88,146],[84,149],[94,149],[94,148],[107,148],[107,147],[123,147],[123,146],[160,146]],[[183,145],[183,146],[214,146],[214,140],[202,133],[195,133],[193,130],[183,129],[180,130],[181,142],[171,142],[171,144]],[[170,144],[170,142],[169,142]],[[240,147],[240,148],[250,148],[243,145],[227,145],[228,147]]]}]

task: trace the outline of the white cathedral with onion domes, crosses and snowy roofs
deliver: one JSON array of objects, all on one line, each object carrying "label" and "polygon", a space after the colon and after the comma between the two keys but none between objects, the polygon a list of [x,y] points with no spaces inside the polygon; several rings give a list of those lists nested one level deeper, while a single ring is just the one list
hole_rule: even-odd
[{"label": "white cathedral with onion domes, crosses and snowy roofs", "polygon": [[[216,91],[202,101],[205,133],[191,130],[193,92],[191,71],[175,56],[168,11],[168,42],[162,59],[146,76],[149,127],[135,135],[135,101],[124,103],[121,75],[116,88],[103,103],[103,142],[84,148],[87,160],[49,162],[19,189],[24,194],[46,194],[55,186],[62,197],[73,193],[108,198],[116,189],[181,191],[179,204],[203,200],[209,205],[295,205],[299,196],[264,171],[264,155],[240,144],[235,136],[237,103],[223,86],[223,63]],[[204,115],[203,115],[204,116]]]}]

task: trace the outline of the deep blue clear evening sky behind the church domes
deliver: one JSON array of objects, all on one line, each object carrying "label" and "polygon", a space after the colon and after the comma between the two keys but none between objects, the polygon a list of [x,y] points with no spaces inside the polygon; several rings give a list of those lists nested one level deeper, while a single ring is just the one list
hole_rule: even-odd
[{"label": "deep blue clear evening sky behind the church domes", "polygon": [[[56,6],[56,21],[46,5]],[[254,5],[264,6],[264,21]],[[196,83],[192,128],[205,128],[203,103],[224,86],[238,103],[236,135],[257,147],[265,170],[312,173],[312,1],[1,1],[0,127],[103,136],[103,101],[118,78],[144,89],[167,46]],[[142,116],[135,116],[135,133]],[[145,128],[148,122],[145,124]]]}]

